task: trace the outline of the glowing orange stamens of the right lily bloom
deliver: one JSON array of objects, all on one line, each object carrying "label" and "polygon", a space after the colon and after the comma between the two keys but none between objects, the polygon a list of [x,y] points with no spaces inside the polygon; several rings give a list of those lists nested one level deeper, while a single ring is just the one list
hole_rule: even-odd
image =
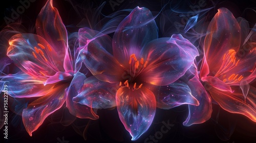
[{"label": "glowing orange stamens of the right lily bloom", "polygon": [[228,73],[229,70],[231,70],[232,68],[236,67],[239,64],[240,60],[237,60],[237,58],[235,57],[236,54],[237,52],[234,50],[229,50],[228,54],[224,54],[222,59],[223,63],[220,69],[217,71],[217,74],[215,75],[215,77],[218,77],[219,79],[223,80],[223,82],[225,83],[238,82],[244,78],[242,75]]}]

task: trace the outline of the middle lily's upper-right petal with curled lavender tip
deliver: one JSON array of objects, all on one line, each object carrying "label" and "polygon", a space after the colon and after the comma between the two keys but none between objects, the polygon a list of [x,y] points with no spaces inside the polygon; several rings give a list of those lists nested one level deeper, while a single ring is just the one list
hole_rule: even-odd
[{"label": "middle lily's upper-right petal with curled lavender tip", "polygon": [[141,79],[153,85],[168,85],[182,77],[198,56],[196,47],[180,34],[148,43],[141,55],[148,62]]}]

